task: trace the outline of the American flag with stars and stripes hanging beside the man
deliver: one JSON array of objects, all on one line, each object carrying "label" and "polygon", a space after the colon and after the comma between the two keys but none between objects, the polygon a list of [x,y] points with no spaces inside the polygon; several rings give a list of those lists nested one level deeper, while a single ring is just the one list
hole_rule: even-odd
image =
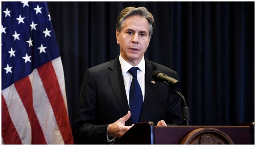
[{"label": "American flag with stars and stripes hanging beside the man", "polygon": [[2,2],[2,144],[74,144],[46,2]]}]

